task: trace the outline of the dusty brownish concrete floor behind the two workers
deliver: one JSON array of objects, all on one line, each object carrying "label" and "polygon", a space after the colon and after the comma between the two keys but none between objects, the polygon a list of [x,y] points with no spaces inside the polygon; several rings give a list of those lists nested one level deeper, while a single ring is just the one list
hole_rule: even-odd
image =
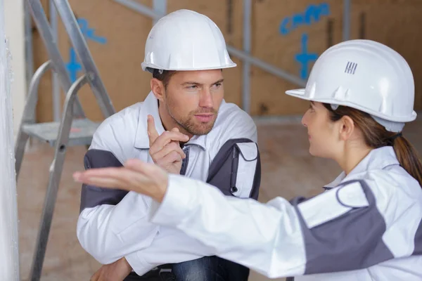
[{"label": "dusty brownish concrete floor behind the two workers", "polygon": [[[340,173],[334,162],[309,155],[307,133],[300,124],[257,124],[262,159],[261,202],[267,202],[276,196],[290,199],[298,195],[316,195],[322,191],[324,184],[331,182]],[[422,154],[422,122],[409,124],[404,129],[404,136]],[[43,281],[89,280],[100,267],[79,246],[75,234],[80,185],[73,182],[72,173],[83,169],[84,152],[84,147],[75,147],[68,149],[66,155],[44,260],[41,277]],[[22,280],[27,280],[30,272],[52,159],[53,149],[45,144],[32,146],[23,159],[18,180]],[[254,272],[250,275],[250,281],[263,280],[267,278]]]}]

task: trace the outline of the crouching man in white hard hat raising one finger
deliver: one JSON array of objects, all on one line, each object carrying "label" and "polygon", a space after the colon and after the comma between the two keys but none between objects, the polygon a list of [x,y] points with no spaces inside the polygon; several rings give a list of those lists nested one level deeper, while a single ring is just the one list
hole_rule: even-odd
[{"label": "crouching man in white hard hat raising one finger", "polygon": [[[151,93],[98,127],[84,157],[86,169],[138,158],[211,183],[225,195],[256,200],[256,126],[224,101],[222,70],[235,66],[221,31],[205,15],[180,10],[161,18],[148,35],[142,63],[153,74]],[[82,187],[77,237],[108,264],[93,280],[123,280],[132,269],[143,275],[165,263],[172,263],[177,280],[248,280],[248,268],[212,256],[177,230],[149,223],[150,206],[149,197],[135,192]]]}]

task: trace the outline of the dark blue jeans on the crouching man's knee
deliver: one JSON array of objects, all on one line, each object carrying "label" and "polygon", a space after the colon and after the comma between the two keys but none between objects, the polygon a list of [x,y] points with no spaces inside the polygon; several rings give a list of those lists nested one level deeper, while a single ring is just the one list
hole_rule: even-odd
[{"label": "dark blue jeans on the crouching man's knee", "polygon": [[218,256],[173,264],[177,281],[247,281],[249,268]]}]

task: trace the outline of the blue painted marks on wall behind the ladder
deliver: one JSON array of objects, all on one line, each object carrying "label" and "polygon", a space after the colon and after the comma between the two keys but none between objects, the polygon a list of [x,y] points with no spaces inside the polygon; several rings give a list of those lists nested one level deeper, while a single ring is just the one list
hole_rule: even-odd
[{"label": "blue painted marks on wall behind the ladder", "polygon": [[[81,28],[81,32],[84,34],[85,39],[99,44],[107,43],[106,38],[97,36],[94,28],[89,28],[88,20],[79,18],[77,22],[79,23],[79,27]],[[70,74],[70,81],[73,83],[77,79],[77,73],[82,70],[82,65],[77,60],[77,55],[73,47],[69,50],[69,62],[66,64],[66,68]]]}]

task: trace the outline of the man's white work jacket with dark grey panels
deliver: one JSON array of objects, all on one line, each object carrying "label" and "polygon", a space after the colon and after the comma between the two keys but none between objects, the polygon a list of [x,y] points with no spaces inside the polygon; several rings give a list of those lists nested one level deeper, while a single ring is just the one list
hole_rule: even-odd
[{"label": "man's white work jacket with dark grey panels", "polygon": [[[150,93],[143,103],[117,112],[98,127],[87,152],[94,160],[88,163],[85,157],[85,166],[122,166],[132,158],[153,162],[148,152],[148,115],[153,115],[158,133],[163,133],[165,130],[158,113],[158,100]],[[248,197],[257,165],[256,126],[252,118],[237,105],[224,100],[212,131],[204,136],[193,136],[184,145],[186,162],[182,166],[183,174],[207,181],[210,164],[222,145],[239,138],[250,140],[250,143],[238,145],[243,156],[249,155],[250,161],[239,159],[238,189],[233,195]],[[160,264],[212,255],[199,242],[196,244],[201,250],[192,249],[192,239],[184,233],[172,228],[162,229],[149,222],[147,214],[151,198],[144,195],[85,186],[81,205],[77,237],[82,247],[100,263],[112,263],[125,256],[136,273],[142,275]]]}]

